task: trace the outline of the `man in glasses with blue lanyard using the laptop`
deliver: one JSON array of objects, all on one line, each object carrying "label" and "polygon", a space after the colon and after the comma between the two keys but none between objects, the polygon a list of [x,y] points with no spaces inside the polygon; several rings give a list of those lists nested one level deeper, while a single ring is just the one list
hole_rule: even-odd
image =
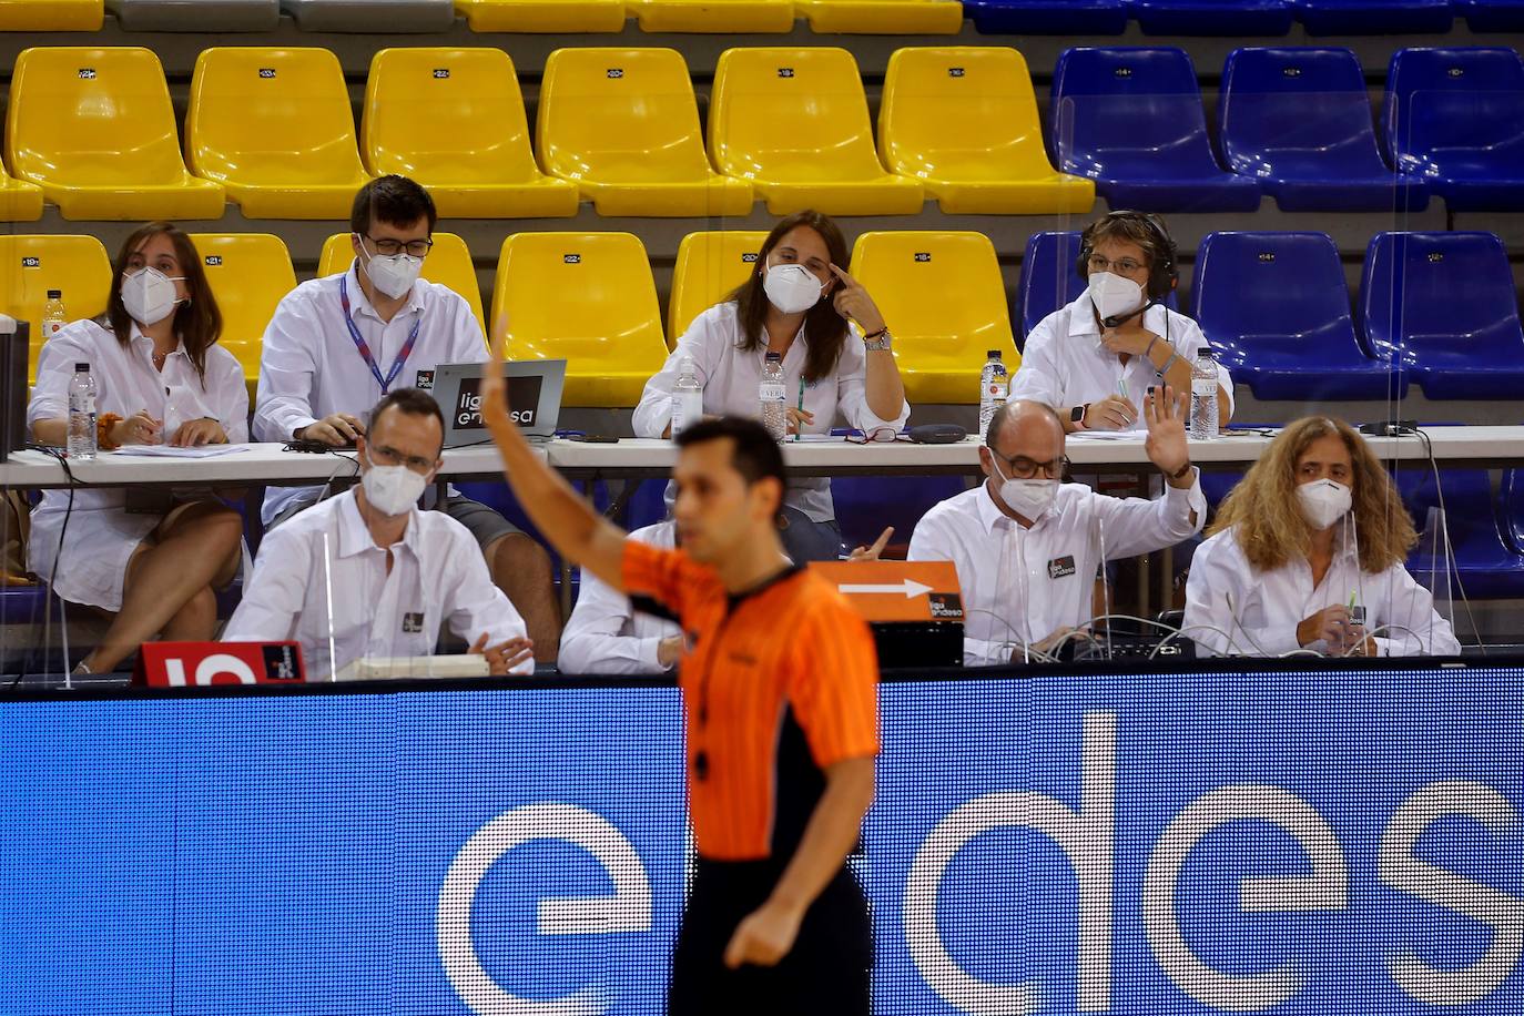
[{"label": "man in glasses with blue lanyard using the laptop", "polygon": [[[355,260],[340,274],[288,292],[265,329],[255,437],[354,445],[363,413],[389,391],[428,387],[439,364],[482,363],[486,338],[465,299],[419,277],[437,221],[428,192],[381,177],[355,195]],[[314,504],[323,487],[270,487],[261,516],[276,527]],[[475,536],[492,580],[514,602],[553,661],[561,635],[550,556],[491,507],[454,490],[443,510]]]}]

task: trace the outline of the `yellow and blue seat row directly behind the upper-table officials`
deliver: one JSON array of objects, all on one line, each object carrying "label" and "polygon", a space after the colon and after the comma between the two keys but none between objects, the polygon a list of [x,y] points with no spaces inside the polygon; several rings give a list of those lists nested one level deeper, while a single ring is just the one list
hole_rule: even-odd
[{"label": "yellow and blue seat row directly behind the upper-table officials", "polygon": [[[517,233],[498,251],[491,317],[471,251],[436,233],[424,277],[471,303],[511,356],[567,356],[567,404],[629,407],[689,323],[756,270],[764,233],[707,232],[678,248],[663,315],[645,247],[629,233]],[[247,376],[259,340],[296,276],[285,244],[264,233],[198,235]],[[1077,235],[1038,233],[1017,285],[1030,329],[1082,292]],[[349,236],[325,244],[320,274],[343,271]],[[34,323],[46,291],[72,317],[99,314],[110,289],[105,248],[90,236],[0,236],[0,264],[21,265],[0,311]],[[974,398],[985,352],[1020,364],[995,250],[972,232],[876,232],[858,238],[850,271],[893,323],[911,402]],[[1257,399],[1512,399],[1524,390],[1524,332],[1503,242],[1492,233],[1379,233],[1366,254],[1358,326],[1344,268],[1324,233],[1212,233],[1198,250],[1193,314],[1237,382]],[[37,363],[34,355],[32,363]]]}]

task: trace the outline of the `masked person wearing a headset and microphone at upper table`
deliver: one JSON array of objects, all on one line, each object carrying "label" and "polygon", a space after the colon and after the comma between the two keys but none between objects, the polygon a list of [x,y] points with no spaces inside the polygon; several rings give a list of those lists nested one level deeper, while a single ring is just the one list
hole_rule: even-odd
[{"label": "masked person wearing a headset and microphone at upper table", "polygon": [[[1055,407],[1073,433],[1140,430],[1151,387],[1189,393],[1207,340],[1163,303],[1180,277],[1175,265],[1175,244],[1158,216],[1111,212],[1091,222],[1079,253],[1088,288],[1027,335],[1010,398]],[[1231,417],[1233,379],[1218,364],[1218,423]]]}]

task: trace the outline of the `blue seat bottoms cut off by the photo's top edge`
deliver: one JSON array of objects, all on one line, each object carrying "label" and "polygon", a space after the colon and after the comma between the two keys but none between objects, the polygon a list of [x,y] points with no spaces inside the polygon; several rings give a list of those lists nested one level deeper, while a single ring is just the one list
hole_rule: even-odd
[{"label": "blue seat bottoms cut off by the photo's top edge", "polygon": [[1524,30],[1524,0],[965,0],[980,32],[1120,35],[1128,20],[1146,35],[1308,35]]}]

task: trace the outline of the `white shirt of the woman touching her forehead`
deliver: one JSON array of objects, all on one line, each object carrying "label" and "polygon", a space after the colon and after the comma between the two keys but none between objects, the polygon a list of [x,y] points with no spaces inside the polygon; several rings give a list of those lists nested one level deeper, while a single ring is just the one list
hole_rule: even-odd
[{"label": "white shirt of the woman touching her forehead", "polygon": [[[794,343],[783,355],[783,388],[788,404],[799,407],[800,375],[805,370],[805,329],[800,327]],[[661,366],[661,372],[646,382],[646,390],[636,407],[634,428],[639,437],[661,437],[672,422],[672,388],[683,369],[683,358],[693,358],[698,382],[704,385],[704,413],[715,416],[759,414],[757,385],[762,381],[762,364],[767,361],[767,343],[745,352],[739,349],[741,327],[736,321],[736,303],[716,303],[687,326],[677,349]],[[864,433],[879,427],[899,430],[910,419],[910,402],[899,408],[899,416],[885,420],[867,405],[867,350],[856,329],[850,329],[841,344],[841,358],[831,375],[805,385],[805,411],[815,422],[803,430],[806,434],[829,434],[840,416],[847,427]],[[669,490],[671,500],[671,490]],[[783,504],[799,509],[815,522],[828,522],[837,516],[831,503],[831,480],[826,477],[799,477],[788,483]]]}]

